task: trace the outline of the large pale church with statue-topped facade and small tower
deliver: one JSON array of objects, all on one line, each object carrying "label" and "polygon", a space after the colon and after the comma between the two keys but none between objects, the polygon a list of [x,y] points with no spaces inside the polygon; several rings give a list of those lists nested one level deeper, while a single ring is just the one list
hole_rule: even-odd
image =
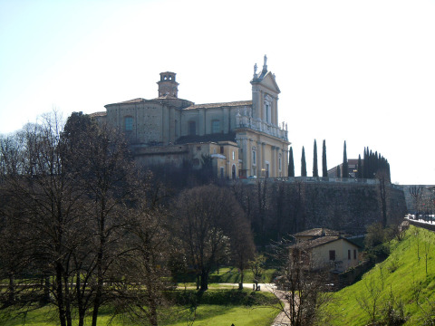
[{"label": "large pale church with statue-topped facade and small tower", "polygon": [[287,177],[288,132],[278,123],[279,88],[263,69],[251,80],[252,99],[195,104],[179,99],[176,73],[161,72],[159,97],[108,104],[92,116],[124,132],[135,159],[146,166],[200,168],[212,158],[218,177]]}]

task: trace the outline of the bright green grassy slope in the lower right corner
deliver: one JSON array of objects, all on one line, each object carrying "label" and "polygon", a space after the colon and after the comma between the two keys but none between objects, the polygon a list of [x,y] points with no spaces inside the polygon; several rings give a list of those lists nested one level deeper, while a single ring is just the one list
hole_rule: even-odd
[{"label": "bright green grassy slope in the lower right corner", "polygon": [[390,319],[395,323],[388,324],[401,325],[404,316],[404,325],[435,325],[435,234],[411,226],[403,240],[389,245],[384,262],[336,293],[329,323],[382,325]]}]

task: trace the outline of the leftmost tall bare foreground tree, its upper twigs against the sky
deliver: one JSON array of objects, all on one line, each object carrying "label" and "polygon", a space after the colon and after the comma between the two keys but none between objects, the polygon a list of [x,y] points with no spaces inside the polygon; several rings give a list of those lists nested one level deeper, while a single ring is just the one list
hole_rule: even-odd
[{"label": "leftmost tall bare foreground tree, its upper twigs against the sky", "polygon": [[27,125],[17,134],[22,144],[19,153],[4,151],[2,166],[6,167],[5,196],[11,199],[5,211],[28,231],[20,240],[32,249],[24,259],[36,271],[53,275],[53,286],[45,283],[45,290],[53,293],[59,323],[66,326],[72,324],[69,261],[81,192],[73,186],[75,176],[63,165],[62,128],[55,112],[44,116],[40,125]]}]

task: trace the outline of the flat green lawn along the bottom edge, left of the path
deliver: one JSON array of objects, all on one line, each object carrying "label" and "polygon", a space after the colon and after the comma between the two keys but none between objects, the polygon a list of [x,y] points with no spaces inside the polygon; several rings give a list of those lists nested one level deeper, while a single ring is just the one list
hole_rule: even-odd
[{"label": "flat green lawn along the bottom edge, left of the path", "polygon": [[[172,291],[168,292],[168,295],[169,300],[178,304],[170,310],[162,311],[161,325],[186,326],[190,325],[188,321],[194,321],[194,326],[229,326],[231,323],[237,326],[269,326],[278,313],[275,308],[275,297],[266,292],[247,290],[240,292],[212,287],[201,296],[198,296],[198,292],[194,290]],[[192,306],[197,306],[197,309],[191,309]],[[0,317],[0,324],[6,326],[58,325],[55,309],[48,306],[27,312],[25,315],[24,312],[13,312],[9,317],[12,318],[8,318],[7,321]],[[113,317],[110,310],[102,310],[98,323],[112,326],[142,325],[142,323],[134,323],[128,316]],[[76,325],[77,322],[74,324]],[[91,324],[91,317],[86,320],[86,324]]]}]

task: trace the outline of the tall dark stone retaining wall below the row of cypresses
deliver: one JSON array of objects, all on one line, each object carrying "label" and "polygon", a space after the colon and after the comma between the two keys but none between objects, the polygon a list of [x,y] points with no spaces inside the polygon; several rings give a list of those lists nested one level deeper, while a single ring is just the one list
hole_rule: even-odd
[{"label": "tall dark stone retaining wall below the row of cypresses", "polygon": [[[367,226],[382,223],[376,182],[260,178],[242,183],[244,188],[234,187],[237,197],[251,220],[257,240],[263,243],[314,227],[362,235]],[[399,224],[407,212],[403,191],[391,185],[386,193],[387,223]]]}]

